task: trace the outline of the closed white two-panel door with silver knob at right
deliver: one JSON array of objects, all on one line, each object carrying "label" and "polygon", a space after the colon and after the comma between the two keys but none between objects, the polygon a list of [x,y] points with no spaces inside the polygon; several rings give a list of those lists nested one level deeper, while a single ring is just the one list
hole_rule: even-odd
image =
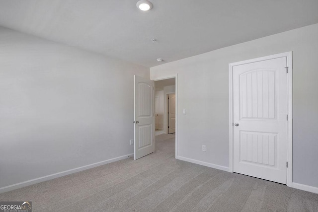
[{"label": "closed white two-panel door with silver knob at right", "polygon": [[233,171],[287,178],[287,59],[233,67]]}]

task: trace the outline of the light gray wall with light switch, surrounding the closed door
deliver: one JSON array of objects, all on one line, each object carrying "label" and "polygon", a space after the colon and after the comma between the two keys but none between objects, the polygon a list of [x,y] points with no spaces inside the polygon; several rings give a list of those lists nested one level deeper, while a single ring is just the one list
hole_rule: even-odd
[{"label": "light gray wall with light switch, surrounding the closed door", "polygon": [[318,24],[151,68],[152,79],[178,73],[178,156],[229,167],[229,63],[289,51],[293,182],[318,187]]}]

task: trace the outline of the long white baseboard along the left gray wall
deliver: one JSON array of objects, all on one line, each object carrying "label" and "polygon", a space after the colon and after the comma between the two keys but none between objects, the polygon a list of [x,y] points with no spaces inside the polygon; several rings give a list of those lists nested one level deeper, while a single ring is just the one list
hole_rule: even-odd
[{"label": "long white baseboard along the left gray wall", "polygon": [[25,186],[33,185],[33,184],[36,184],[36,183],[41,183],[43,181],[52,180],[54,178],[58,178],[58,177],[62,177],[62,176],[65,176],[65,175],[73,174],[73,173],[76,173],[76,172],[79,172],[79,171],[83,171],[83,170],[86,170],[86,169],[94,168],[96,166],[105,165],[107,163],[115,162],[115,161],[118,161],[118,160],[126,159],[128,157],[133,157],[133,156],[134,156],[134,154],[127,154],[127,155],[111,158],[111,159],[108,159],[108,160],[100,161],[100,162],[97,162],[97,163],[92,163],[92,164],[89,164],[89,165],[81,166],[81,167],[78,167],[78,168],[75,168],[75,169],[70,169],[70,170],[58,172],[58,173],[55,173],[55,174],[50,174],[50,175],[47,175],[47,176],[44,176],[44,177],[39,177],[39,178],[35,178],[35,179],[32,179],[32,180],[24,181],[24,182],[21,182],[21,183],[16,183],[16,184],[13,184],[13,185],[5,186],[5,187],[0,188],[0,194],[4,193],[4,192],[12,191],[14,189],[19,189],[19,188],[22,188],[22,187],[25,187]]}]

